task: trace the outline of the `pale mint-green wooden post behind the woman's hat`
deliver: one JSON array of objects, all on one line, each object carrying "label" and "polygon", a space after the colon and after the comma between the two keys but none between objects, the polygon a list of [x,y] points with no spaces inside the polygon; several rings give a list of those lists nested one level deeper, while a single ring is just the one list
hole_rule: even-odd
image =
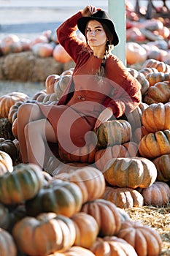
[{"label": "pale mint-green wooden post behind the woman's hat", "polygon": [[115,24],[115,29],[119,37],[119,44],[112,51],[126,65],[125,43],[126,43],[126,15],[125,0],[108,0],[108,12]]}]

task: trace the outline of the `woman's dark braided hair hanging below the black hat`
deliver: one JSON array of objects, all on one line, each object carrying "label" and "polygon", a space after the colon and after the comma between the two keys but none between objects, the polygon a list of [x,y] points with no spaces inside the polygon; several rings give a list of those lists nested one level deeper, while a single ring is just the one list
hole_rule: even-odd
[{"label": "woman's dark braided hair hanging below the black hat", "polygon": [[[103,27],[104,29],[104,32],[106,33],[107,35],[107,43],[106,43],[106,49],[105,49],[105,53],[104,53],[104,59],[103,61],[101,62],[101,67],[100,69],[98,70],[97,72],[97,75],[101,76],[101,77],[104,77],[105,76],[105,62],[107,60],[107,58],[109,57],[109,53],[111,52],[112,48],[114,47],[114,45],[112,45],[112,40],[113,40],[113,34],[112,32],[110,31],[109,27],[107,26],[107,24],[105,23],[101,23],[101,26]],[[87,26],[88,26],[88,23],[87,23]],[[87,27],[86,26],[86,27]],[[87,29],[85,29],[85,39],[86,39],[86,42],[88,44],[88,39],[86,37],[86,33],[87,33]],[[89,46],[89,45],[88,45]],[[90,48],[90,46],[89,46]]]}]

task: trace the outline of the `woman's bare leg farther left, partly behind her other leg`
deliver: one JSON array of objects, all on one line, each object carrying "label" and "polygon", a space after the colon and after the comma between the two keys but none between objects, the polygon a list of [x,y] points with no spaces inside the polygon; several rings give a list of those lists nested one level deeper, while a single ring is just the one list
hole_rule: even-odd
[{"label": "woman's bare leg farther left, partly behind her other leg", "polygon": [[22,154],[23,162],[28,162],[28,154],[26,147],[25,127],[30,121],[39,120],[45,118],[42,112],[39,110],[39,106],[32,103],[26,103],[20,106],[18,109],[18,140],[20,143],[20,152]]}]

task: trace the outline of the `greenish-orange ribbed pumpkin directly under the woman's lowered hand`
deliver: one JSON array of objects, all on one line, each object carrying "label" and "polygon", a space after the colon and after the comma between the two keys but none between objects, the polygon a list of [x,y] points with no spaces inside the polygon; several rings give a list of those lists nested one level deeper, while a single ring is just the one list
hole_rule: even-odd
[{"label": "greenish-orange ribbed pumpkin directly under the woman's lowered hand", "polygon": [[125,120],[106,121],[93,129],[97,137],[97,146],[107,148],[116,144],[123,144],[131,140],[131,124]]}]

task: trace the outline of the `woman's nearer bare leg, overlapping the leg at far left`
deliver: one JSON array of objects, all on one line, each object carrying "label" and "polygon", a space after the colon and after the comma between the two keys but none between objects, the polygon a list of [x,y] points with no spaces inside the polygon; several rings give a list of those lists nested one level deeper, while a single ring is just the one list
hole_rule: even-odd
[{"label": "woman's nearer bare leg, overlapping the leg at far left", "polygon": [[24,132],[28,138],[26,140],[28,162],[43,168],[45,155],[52,155],[47,142],[57,143],[52,125],[47,119],[31,121],[26,124]]}]

